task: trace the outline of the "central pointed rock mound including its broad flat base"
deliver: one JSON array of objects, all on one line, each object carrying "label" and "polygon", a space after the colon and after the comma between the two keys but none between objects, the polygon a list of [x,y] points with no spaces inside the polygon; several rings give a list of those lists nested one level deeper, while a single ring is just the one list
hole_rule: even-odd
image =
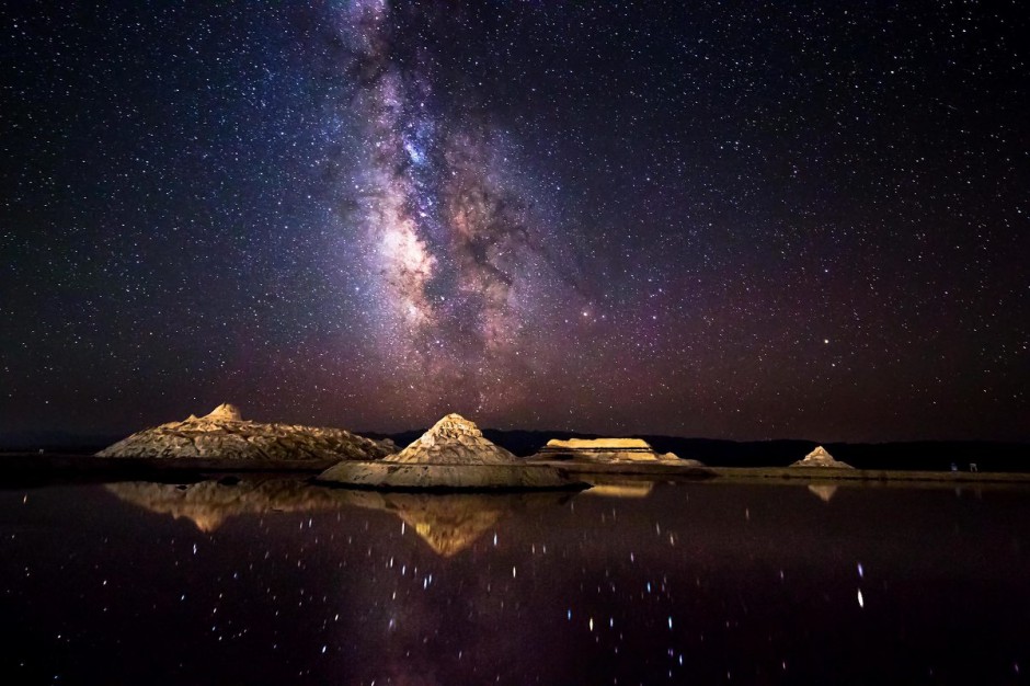
[{"label": "central pointed rock mound including its broad flat base", "polygon": [[585,488],[558,469],[526,465],[458,414],[448,414],[397,455],[376,462],[340,462],[318,479],[386,490]]}]

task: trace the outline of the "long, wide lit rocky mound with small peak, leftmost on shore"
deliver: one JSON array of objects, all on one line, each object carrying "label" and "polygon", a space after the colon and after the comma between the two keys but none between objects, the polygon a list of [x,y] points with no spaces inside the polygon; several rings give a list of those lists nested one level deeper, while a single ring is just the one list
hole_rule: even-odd
[{"label": "long, wide lit rocky mound with small peak, leftmost on shore", "polygon": [[98,453],[98,457],[203,458],[243,460],[378,459],[394,449],[342,428],[244,421],[221,404],[206,416],[190,415],[147,428]]}]

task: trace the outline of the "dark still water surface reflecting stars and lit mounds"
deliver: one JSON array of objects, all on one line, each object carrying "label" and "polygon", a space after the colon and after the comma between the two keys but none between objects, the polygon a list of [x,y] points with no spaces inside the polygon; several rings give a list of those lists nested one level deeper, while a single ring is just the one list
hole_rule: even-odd
[{"label": "dark still water surface reflecting stars and lit mounds", "polygon": [[1030,491],[648,488],[0,491],[0,683],[1028,681]]}]

